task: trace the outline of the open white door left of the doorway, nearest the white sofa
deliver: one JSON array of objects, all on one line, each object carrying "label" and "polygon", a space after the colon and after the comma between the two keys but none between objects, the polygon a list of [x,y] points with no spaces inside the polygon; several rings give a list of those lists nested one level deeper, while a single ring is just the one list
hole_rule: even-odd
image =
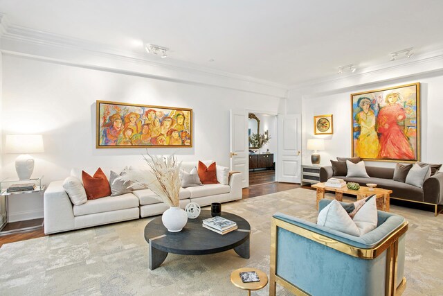
[{"label": "open white door left of the doorway, nearest the white sofa", "polygon": [[230,110],[230,171],[242,173],[242,188],[249,186],[248,112]]}]

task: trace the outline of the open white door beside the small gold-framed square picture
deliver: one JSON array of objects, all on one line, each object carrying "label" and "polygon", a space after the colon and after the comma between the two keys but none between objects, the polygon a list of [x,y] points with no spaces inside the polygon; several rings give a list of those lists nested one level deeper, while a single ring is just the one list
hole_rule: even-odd
[{"label": "open white door beside the small gold-framed square picture", "polygon": [[300,183],[301,116],[278,115],[278,182]]}]

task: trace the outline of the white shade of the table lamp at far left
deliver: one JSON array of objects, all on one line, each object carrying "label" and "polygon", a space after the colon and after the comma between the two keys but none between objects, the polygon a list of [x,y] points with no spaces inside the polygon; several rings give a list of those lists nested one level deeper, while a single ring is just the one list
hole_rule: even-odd
[{"label": "white shade of the table lamp at far left", "polygon": [[7,134],[5,153],[44,153],[42,134]]}]

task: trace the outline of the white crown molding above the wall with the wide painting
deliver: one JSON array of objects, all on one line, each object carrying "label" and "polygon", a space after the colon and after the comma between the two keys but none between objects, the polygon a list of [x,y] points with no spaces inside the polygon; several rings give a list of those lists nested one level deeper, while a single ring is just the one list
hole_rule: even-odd
[{"label": "white crown molding above the wall with the wide painting", "polygon": [[[4,21],[3,21],[4,20]],[[3,43],[6,42],[20,42],[28,44],[30,46],[44,46],[46,48],[53,48],[58,50],[76,50],[84,53],[89,53],[94,56],[106,58],[110,60],[118,60],[122,62],[129,62],[132,64],[141,64],[157,69],[163,69],[168,71],[175,71],[184,74],[192,74],[190,76],[206,76],[212,78],[212,80],[238,80],[243,85],[257,85],[257,87],[266,89],[269,88],[269,92],[257,93],[275,96],[276,98],[286,97],[288,87],[275,82],[269,82],[266,80],[260,80],[248,76],[242,76],[235,73],[228,73],[224,71],[218,71],[214,69],[208,69],[206,67],[199,67],[195,64],[174,60],[173,58],[160,59],[158,57],[150,56],[143,53],[135,53],[132,51],[123,51],[120,49],[107,46],[105,44],[98,44],[96,42],[89,42],[87,40],[81,40],[78,38],[67,37],[54,33],[48,33],[44,31],[38,31],[33,28],[26,28],[24,26],[17,26],[8,24],[6,21],[6,15],[0,13],[0,38]],[[8,49],[6,46],[1,46],[3,52],[16,55],[20,55],[20,52],[15,49]],[[30,53],[26,53],[29,55]],[[35,54],[37,55],[37,54]],[[68,62],[68,61],[66,61]],[[217,85],[217,82],[213,83],[213,86]],[[223,84],[218,85],[223,87]],[[230,87],[234,88],[235,87]],[[244,89],[240,89],[244,90]]]}]

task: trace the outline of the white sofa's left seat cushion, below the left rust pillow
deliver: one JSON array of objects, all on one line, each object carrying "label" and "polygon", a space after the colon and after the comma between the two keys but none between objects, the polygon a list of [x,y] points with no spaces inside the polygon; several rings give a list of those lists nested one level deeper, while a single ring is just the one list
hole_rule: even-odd
[{"label": "white sofa's left seat cushion, below the left rust pillow", "polygon": [[130,209],[138,207],[140,203],[138,198],[132,193],[126,193],[118,196],[107,196],[96,200],[88,200],[84,204],[74,205],[74,216],[82,216],[105,211],[117,211],[119,209]]}]

